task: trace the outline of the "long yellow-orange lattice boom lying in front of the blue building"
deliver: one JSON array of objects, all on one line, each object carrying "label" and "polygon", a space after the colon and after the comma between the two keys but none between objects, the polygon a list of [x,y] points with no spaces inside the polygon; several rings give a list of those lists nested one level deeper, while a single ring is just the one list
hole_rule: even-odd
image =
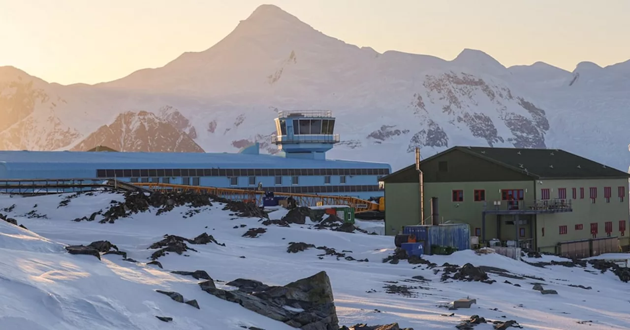
[{"label": "long yellow-orange lattice boom lying in front of the blue building", "polygon": [[[132,184],[153,191],[191,190],[194,192],[207,192],[226,199],[255,202],[256,204],[262,204],[263,198],[265,197],[265,192],[261,190],[205,187],[203,185],[163,184],[161,182],[133,182]],[[379,207],[379,204],[348,196],[295,194],[292,192],[274,192],[273,195],[279,197],[293,197],[297,204],[301,206],[347,205],[354,207],[355,212],[377,210]]]}]

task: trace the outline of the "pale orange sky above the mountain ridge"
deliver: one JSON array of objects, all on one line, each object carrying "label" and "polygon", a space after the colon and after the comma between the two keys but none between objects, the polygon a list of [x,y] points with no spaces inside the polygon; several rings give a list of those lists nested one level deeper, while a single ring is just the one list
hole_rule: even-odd
[{"label": "pale orange sky above the mountain ridge", "polygon": [[566,70],[630,58],[630,0],[0,0],[0,65],[61,84],[118,79],[211,47],[264,3],[378,52],[474,48]]}]

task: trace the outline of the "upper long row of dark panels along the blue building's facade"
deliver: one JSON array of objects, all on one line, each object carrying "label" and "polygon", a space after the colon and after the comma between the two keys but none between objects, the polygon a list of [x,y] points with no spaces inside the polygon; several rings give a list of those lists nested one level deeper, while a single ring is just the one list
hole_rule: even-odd
[{"label": "upper long row of dark panels along the blue building's facade", "polygon": [[96,170],[96,177],[276,177],[307,175],[387,175],[389,168],[179,168]]}]

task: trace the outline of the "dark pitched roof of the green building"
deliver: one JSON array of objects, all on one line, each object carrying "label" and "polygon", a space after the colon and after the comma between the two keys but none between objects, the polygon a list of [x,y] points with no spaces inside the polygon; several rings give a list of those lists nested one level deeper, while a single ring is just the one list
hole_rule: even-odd
[{"label": "dark pitched roof of the green building", "polygon": [[[573,153],[559,149],[529,149],[529,148],[490,148],[481,146],[454,146],[448,150],[428,157],[422,162],[435,160],[451,151],[462,151],[489,162],[510,168],[536,179],[600,179],[627,178],[629,173],[616,168],[580,157]],[[410,165],[398,170],[381,181],[396,177],[402,172],[415,168]]]}]

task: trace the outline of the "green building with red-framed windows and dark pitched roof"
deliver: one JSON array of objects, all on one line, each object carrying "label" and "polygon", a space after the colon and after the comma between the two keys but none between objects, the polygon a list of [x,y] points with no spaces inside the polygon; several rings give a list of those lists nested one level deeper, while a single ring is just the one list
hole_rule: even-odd
[{"label": "green building with red-framed windows and dark pitched roof", "polygon": [[386,234],[467,223],[479,243],[499,239],[570,256],[627,251],[628,173],[563,150],[455,146],[381,179]]}]

